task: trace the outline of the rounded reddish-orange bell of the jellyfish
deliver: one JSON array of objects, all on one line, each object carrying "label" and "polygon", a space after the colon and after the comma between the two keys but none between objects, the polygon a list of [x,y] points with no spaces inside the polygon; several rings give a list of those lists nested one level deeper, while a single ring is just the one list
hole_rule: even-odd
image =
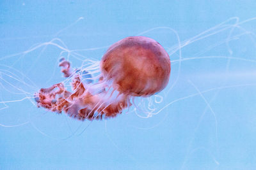
[{"label": "rounded reddish-orange bell of the jellyfish", "polygon": [[113,79],[114,88],[131,96],[151,96],[164,89],[171,71],[163,46],[144,36],[127,37],[111,45],[100,66],[103,76]]}]

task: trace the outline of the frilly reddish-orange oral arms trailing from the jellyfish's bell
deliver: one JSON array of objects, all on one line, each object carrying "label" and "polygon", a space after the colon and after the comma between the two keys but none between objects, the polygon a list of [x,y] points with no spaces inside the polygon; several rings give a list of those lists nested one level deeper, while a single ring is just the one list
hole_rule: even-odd
[{"label": "frilly reddish-orange oral arms trailing from the jellyfish's bell", "polygon": [[85,89],[78,74],[73,79],[72,87],[74,89],[73,93],[68,92],[62,83],[41,89],[38,94],[35,94],[38,97],[36,100],[38,107],[57,113],[64,111],[69,117],[77,120],[100,120],[103,117],[115,117],[118,113],[122,113],[124,108],[131,106],[126,96],[118,97],[117,101],[111,102],[109,98],[112,95],[104,97],[107,95],[107,91],[92,95]]}]

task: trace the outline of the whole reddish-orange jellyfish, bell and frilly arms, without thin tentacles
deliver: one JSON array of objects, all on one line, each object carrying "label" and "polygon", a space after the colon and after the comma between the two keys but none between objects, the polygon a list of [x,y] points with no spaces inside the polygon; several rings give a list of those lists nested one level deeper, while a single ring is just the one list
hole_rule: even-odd
[{"label": "whole reddish-orange jellyfish, bell and frilly arms, without thin tentacles", "polygon": [[171,63],[168,53],[157,41],[131,36],[111,45],[100,60],[100,76],[93,80],[86,70],[73,69],[60,59],[61,72],[72,80],[72,90],[64,83],[40,89],[35,94],[38,107],[77,120],[113,118],[129,108],[132,97],[149,97],[166,87]]}]

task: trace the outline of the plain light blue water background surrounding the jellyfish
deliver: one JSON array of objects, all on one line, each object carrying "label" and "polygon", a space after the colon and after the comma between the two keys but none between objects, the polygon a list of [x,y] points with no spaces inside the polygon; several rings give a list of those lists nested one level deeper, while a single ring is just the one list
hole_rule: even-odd
[{"label": "plain light blue water background surrounding the jellyfish", "polygon": [[[33,96],[36,90],[64,80],[58,68],[60,48],[48,45],[26,52],[53,38],[70,50],[105,46],[78,52],[100,60],[107,46],[126,36],[168,27],[184,41],[232,17],[241,21],[256,17],[255,9],[253,0],[1,0],[0,101],[26,97],[24,92],[17,94],[20,89]],[[180,70],[179,62],[172,62],[170,84],[161,93],[166,97],[157,108],[171,104],[150,118],[130,112],[81,123],[36,108],[28,99],[0,103],[0,169],[255,169],[256,50],[254,35],[246,32],[255,28],[251,20],[233,31],[212,36],[208,32],[207,38],[184,46],[183,58],[213,57],[182,60]],[[169,29],[143,35],[166,50],[178,44]],[[228,35],[232,40],[225,43]],[[179,53],[170,59],[179,60]],[[75,67],[81,65],[70,60]],[[7,72],[20,80],[3,74]],[[214,90],[200,94],[209,89]],[[189,97],[192,94],[196,96]]]}]

